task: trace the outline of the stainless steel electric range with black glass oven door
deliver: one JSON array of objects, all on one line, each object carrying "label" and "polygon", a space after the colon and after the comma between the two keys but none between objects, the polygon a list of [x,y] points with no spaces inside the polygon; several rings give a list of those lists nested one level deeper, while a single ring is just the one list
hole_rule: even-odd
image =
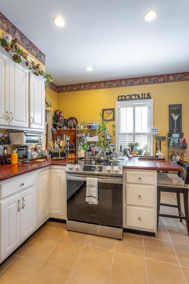
[{"label": "stainless steel electric range with black glass oven door", "polygon": [[[67,230],[123,238],[123,164],[80,158],[66,165]],[[86,201],[88,177],[97,181],[97,204]]]}]

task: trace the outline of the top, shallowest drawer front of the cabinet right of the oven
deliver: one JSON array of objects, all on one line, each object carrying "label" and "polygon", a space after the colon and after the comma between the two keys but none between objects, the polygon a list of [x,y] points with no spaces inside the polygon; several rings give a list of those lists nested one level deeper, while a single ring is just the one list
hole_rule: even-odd
[{"label": "top, shallowest drawer front of the cabinet right of the oven", "polygon": [[154,184],[154,173],[127,172],[126,182]]}]

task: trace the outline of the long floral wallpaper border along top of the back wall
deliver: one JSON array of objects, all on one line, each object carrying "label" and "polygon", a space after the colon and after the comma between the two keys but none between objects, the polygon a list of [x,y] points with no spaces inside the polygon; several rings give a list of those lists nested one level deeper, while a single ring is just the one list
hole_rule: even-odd
[{"label": "long floral wallpaper border along top of the back wall", "polygon": [[75,84],[75,85],[65,85],[65,86],[56,86],[53,83],[50,83],[49,88],[55,91],[56,93],[66,93],[74,91],[120,88],[120,87],[150,85],[150,84],[159,84],[159,83],[172,83],[172,82],[181,82],[181,81],[189,81],[189,72],[102,81],[94,83]]}]

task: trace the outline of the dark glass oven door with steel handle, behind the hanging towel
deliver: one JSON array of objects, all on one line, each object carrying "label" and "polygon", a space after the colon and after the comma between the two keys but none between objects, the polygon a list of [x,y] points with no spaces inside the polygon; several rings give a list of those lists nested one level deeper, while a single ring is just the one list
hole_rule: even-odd
[{"label": "dark glass oven door with steel handle, behind the hanging towel", "polygon": [[123,178],[95,176],[98,182],[98,204],[86,198],[86,177],[66,174],[67,218],[90,224],[123,227]]}]

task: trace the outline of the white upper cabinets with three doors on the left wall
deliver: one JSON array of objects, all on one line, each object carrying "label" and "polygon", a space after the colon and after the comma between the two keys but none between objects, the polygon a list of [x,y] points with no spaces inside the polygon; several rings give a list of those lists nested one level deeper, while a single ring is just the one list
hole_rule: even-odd
[{"label": "white upper cabinets with three doors on the left wall", "polygon": [[45,130],[45,81],[0,51],[0,128]]}]

